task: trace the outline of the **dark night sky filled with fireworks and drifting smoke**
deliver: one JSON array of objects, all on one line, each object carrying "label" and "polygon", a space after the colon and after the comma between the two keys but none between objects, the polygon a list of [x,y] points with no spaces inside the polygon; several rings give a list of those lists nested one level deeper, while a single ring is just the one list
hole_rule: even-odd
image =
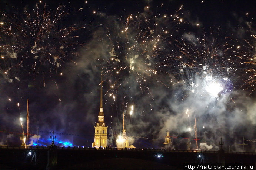
[{"label": "dark night sky filled with fireworks and drifting smoke", "polygon": [[59,146],[91,146],[103,71],[109,145],[124,112],[137,147],[168,131],[174,149],[222,137],[242,151],[244,136],[255,152],[255,16],[240,0],[0,1],[0,144],[21,144],[28,100],[40,145],[54,131]]}]

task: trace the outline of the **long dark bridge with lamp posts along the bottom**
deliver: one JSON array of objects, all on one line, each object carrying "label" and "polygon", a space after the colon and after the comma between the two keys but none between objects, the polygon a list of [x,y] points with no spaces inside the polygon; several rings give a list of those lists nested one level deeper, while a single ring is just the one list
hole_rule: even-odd
[{"label": "long dark bridge with lamp posts along the bottom", "polygon": [[0,169],[183,169],[185,163],[256,163],[256,153],[0,146]]}]

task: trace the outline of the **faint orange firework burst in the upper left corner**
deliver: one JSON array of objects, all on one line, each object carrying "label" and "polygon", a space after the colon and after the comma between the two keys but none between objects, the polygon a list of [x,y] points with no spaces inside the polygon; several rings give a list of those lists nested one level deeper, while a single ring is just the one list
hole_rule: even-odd
[{"label": "faint orange firework burst in the upper left corner", "polygon": [[51,11],[46,5],[36,5],[33,11],[25,9],[21,15],[1,15],[1,73],[5,77],[8,73],[9,79],[19,73],[33,79],[59,73],[64,63],[76,55],[74,49],[81,45],[73,36],[79,28],[61,25],[68,15],[65,6]]}]

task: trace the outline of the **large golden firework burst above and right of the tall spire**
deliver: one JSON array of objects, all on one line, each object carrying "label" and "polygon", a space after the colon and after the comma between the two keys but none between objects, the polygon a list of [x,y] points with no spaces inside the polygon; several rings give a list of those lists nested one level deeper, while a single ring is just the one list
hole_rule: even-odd
[{"label": "large golden firework burst above and right of the tall spire", "polygon": [[[170,86],[173,77],[169,72],[176,62],[172,55],[176,51],[173,42],[180,34],[180,25],[188,24],[181,17],[182,8],[170,15],[154,14],[146,6],[143,13],[129,15],[125,21],[114,20],[106,29],[109,50],[107,56],[97,58],[100,62],[97,66],[109,79],[109,96],[114,96],[121,88],[125,91],[122,93],[125,109],[132,98],[132,91],[153,99],[152,84]],[[164,76],[168,78],[163,79]],[[133,99],[130,103],[134,103]]]}]

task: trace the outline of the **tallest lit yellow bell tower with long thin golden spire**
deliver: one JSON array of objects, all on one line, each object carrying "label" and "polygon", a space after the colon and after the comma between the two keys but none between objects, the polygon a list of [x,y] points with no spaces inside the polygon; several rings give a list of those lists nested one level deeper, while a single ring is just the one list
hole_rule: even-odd
[{"label": "tallest lit yellow bell tower with long thin golden spire", "polygon": [[95,133],[94,133],[94,142],[92,147],[100,148],[107,146],[107,127],[104,122],[104,113],[103,113],[103,93],[102,93],[102,72],[101,72],[101,83],[100,83],[100,112],[98,115],[98,122],[96,123]]}]

